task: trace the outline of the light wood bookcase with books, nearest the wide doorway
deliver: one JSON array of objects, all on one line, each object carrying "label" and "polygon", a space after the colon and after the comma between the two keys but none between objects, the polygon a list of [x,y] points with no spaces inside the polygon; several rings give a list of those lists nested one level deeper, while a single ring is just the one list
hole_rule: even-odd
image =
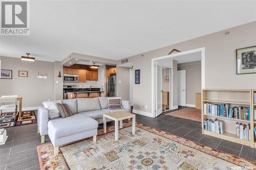
[{"label": "light wood bookcase with books, nearest the wide doorway", "polygon": [[[255,92],[256,92],[256,90],[255,90]],[[253,132],[253,127],[254,127],[253,125],[254,125],[254,121],[256,122],[256,120],[253,120],[253,109],[252,108],[253,108],[254,104],[252,101],[253,100],[252,93],[253,93],[253,90],[249,90],[249,89],[248,90],[202,89],[202,130],[203,130],[203,134],[218,137],[221,139],[229,140],[229,141],[240,143],[240,144],[244,144],[251,148],[256,148],[256,139],[254,140],[254,132]],[[207,103],[217,105],[216,108],[214,108],[214,111],[215,111],[214,114],[208,114],[208,112],[207,112],[207,114],[204,113],[204,109],[205,109],[204,104],[207,104]],[[222,107],[223,107],[223,105],[225,105],[225,107],[221,108],[221,110],[222,110],[221,115],[219,114],[220,113],[219,105],[222,105]],[[218,107],[218,109],[217,109],[217,107]],[[234,115],[229,117],[229,114],[230,114],[229,108],[233,108],[233,109],[234,108],[239,108],[239,109],[242,108],[244,111],[243,116],[246,116],[246,117],[235,118]],[[256,108],[256,106],[255,106],[255,108]],[[208,109],[208,105],[207,105],[207,109]],[[218,115],[216,114],[217,110],[218,110]],[[240,114],[242,114],[241,110],[239,110]],[[223,115],[224,114],[223,112],[225,113],[225,116]],[[231,113],[234,114],[234,111]],[[248,114],[248,113],[250,113],[250,114]],[[204,119],[214,120],[215,118],[218,118],[219,120],[223,120],[224,132],[222,134],[207,131],[204,129],[204,126],[205,126]],[[250,120],[248,120],[249,118],[250,118]],[[237,133],[236,123],[237,122],[246,124],[246,125],[250,124],[249,134],[247,133],[247,138],[249,138],[249,135],[250,135],[250,140],[240,139],[237,136],[237,134],[236,134]]]}]

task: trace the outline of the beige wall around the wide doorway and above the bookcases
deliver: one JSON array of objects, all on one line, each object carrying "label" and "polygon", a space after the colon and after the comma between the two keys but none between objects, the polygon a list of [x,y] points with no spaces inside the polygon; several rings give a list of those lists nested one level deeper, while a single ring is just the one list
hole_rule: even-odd
[{"label": "beige wall around the wide doorway and above the bookcases", "polygon": [[[141,84],[134,84],[134,109],[152,113],[152,58],[166,56],[174,48],[184,52],[205,47],[205,88],[255,89],[256,74],[236,75],[236,49],[256,45],[256,21],[129,58],[141,71]],[[121,60],[119,61],[119,63]],[[245,83],[250,82],[250,83]],[[143,108],[147,105],[147,108]]]}]

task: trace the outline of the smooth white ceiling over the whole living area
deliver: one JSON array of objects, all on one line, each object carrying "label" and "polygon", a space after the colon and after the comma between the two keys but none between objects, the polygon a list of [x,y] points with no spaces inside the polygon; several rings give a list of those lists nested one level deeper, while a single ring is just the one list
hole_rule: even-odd
[{"label": "smooth white ceiling over the whole living area", "polygon": [[30,36],[1,36],[0,55],[122,59],[256,20],[255,1],[30,1]]}]

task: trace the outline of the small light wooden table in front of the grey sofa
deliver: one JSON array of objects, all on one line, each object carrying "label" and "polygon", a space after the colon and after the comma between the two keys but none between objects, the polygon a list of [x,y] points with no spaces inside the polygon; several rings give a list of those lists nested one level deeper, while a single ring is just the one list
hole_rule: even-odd
[{"label": "small light wooden table in front of the grey sofa", "polygon": [[118,140],[118,121],[120,121],[120,128],[123,128],[123,119],[133,118],[132,134],[135,134],[135,116],[136,116],[135,114],[128,113],[128,112],[113,112],[113,113],[103,114],[104,133],[106,133],[106,118],[115,120],[115,140]]}]

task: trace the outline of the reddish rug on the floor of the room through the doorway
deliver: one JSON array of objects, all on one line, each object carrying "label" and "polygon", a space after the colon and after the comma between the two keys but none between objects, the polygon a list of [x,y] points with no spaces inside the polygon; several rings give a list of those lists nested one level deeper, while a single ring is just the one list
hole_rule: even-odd
[{"label": "reddish rug on the floor of the room through the doorway", "polygon": [[165,115],[201,122],[201,116],[202,116],[201,114],[202,114],[201,110],[198,110],[195,108],[184,108],[174,112],[166,113]]}]

